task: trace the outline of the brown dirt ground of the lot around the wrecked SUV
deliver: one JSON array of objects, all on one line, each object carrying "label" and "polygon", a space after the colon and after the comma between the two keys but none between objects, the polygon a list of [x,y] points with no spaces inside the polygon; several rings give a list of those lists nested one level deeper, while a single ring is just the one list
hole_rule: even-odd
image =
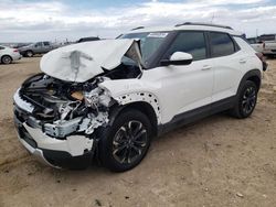
[{"label": "brown dirt ground of the lot around the wrecked SUV", "polygon": [[217,115],[156,139],[135,170],[54,170],[20,145],[12,95],[39,72],[39,57],[0,65],[0,207],[248,206],[276,204],[276,61],[254,115]]}]

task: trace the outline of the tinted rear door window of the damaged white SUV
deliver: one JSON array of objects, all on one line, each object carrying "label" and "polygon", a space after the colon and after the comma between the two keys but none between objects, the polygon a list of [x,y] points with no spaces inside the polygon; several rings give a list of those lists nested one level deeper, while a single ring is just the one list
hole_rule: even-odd
[{"label": "tinted rear door window of the damaged white SUV", "polygon": [[235,53],[235,46],[229,34],[210,32],[210,43],[213,57],[226,56]]}]

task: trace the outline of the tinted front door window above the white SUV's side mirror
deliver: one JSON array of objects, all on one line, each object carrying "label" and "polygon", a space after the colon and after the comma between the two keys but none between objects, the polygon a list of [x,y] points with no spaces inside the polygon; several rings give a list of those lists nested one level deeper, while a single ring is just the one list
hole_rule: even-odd
[{"label": "tinted front door window above the white SUV's side mirror", "polygon": [[193,61],[206,58],[206,44],[203,32],[181,32],[167,52],[170,57],[174,52],[190,53]]}]

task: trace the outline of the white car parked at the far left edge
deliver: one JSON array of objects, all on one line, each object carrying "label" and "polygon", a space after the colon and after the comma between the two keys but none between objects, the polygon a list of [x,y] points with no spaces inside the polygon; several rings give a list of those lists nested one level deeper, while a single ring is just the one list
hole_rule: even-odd
[{"label": "white car parked at the far left edge", "polygon": [[2,64],[10,64],[13,61],[19,61],[21,55],[17,48],[0,45],[0,62]]}]

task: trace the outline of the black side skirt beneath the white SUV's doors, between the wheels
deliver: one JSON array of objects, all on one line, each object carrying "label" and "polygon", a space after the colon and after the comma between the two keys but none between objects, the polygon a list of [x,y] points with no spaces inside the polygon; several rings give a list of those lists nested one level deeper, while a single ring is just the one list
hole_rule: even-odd
[{"label": "black side skirt beneath the white SUV's doors, between the wheels", "polygon": [[233,97],[222,99],[216,102],[200,107],[198,109],[193,109],[193,110],[177,115],[172,118],[171,121],[164,124],[158,126],[158,135],[161,135],[163,133],[167,133],[180,127],[187,126],[189,123],[195,122],[205,117],[231,109],[234,107],[234,103],[236,102],[236,98],[237,98],[236,96],[233,96]]}]

